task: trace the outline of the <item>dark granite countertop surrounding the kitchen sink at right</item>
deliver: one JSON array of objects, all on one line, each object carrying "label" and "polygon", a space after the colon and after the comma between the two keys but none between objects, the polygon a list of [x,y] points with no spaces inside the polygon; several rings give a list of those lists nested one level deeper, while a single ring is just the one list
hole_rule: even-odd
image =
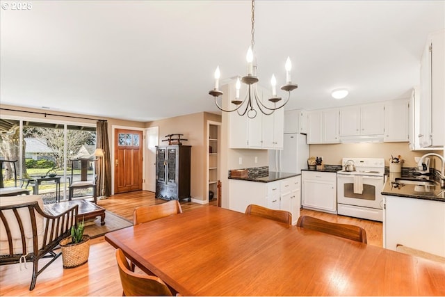
[{"label": "dark granite countertop surrounding the kitchen sink at right", "polygon": [[[445,202],[445,191],[440,187],[439,182],[434,182],[434,184],[419,186],[414,184],[404,184],[403,181],[398,184],[396,182],[397,177],[403,177],[407,179],[416,179],[415,176],[410,174],[389,174],[387,182],[382,190],[382,195],[391,195],[406,198],[424,199],[424,200],[435,200]],[[418,177],[418,179],[421,179]]]}]

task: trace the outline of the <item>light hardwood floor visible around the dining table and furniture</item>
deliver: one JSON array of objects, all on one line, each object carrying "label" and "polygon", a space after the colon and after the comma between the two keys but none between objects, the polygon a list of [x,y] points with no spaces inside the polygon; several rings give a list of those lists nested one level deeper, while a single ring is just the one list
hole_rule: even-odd
[{"label": "light hardwood floor visible around the dining table and furniture", "polygon": [[[165,201],[155,199],[152,192],[136,191],[113,195],[106,200],[98,200],[97,204],[132,220],[135,207],[162,202]],[[211,204],[216,204],[216,200]],[[185,200],[181,202],[183,211],[206,206]],[[382,223],[307,209],[302,209],[301,214],[337,223],[359,225],[366,230],[368,244],[382,246]],[[92,239],[90,257],[86,264],[77,268],[63,269],[62,257],[59,257],[38,276],[33,291],[29,291],[31,264],[27,265],[28,269],[25,269],[22,264],[22,271],[19,264],[0,266],[0,296],[122,296],[114,252],[115,249],[104,240],[104,236]],[[46,261],[41,260],[40,267]],[[138,271],[137,268],[136,271]]]}]

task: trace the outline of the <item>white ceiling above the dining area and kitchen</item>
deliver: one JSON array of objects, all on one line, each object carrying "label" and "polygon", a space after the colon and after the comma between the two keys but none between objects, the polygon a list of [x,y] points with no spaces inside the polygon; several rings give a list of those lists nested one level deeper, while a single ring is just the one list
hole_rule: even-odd
[{"label": "white ceiling above the dining area and kitchen", "polygon": [[[216,66],[245,75],[250,1],[26,2],[0,9],[1,104],[145,122],[216,112]],[[290,56],[286,109],[409,97],[444,16],[445,1],[256,1],[260,84],[284,84]]]}]

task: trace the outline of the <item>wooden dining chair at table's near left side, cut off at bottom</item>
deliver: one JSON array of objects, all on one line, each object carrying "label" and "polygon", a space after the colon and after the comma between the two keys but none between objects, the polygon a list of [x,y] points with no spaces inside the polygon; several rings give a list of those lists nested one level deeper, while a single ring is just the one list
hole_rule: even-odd
[{"label": "wooden dining chair at table's near left side, cut off at bottom", "polygon": [[157,276],[130,271],[127,257],[120,248],[116,250],[116,261],[123,289],[122,296],[172,296],[165,282]]}]

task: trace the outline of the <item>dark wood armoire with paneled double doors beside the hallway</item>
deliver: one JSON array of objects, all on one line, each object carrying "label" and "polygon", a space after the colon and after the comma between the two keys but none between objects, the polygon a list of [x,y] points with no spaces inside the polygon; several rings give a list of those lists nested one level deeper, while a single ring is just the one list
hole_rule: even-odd
[{"label": "dark wood armoire with paneled double doors beside the hallway", "polygon": [[188,199],[191,178],[191,146],[156,146],[156,198]]}]

